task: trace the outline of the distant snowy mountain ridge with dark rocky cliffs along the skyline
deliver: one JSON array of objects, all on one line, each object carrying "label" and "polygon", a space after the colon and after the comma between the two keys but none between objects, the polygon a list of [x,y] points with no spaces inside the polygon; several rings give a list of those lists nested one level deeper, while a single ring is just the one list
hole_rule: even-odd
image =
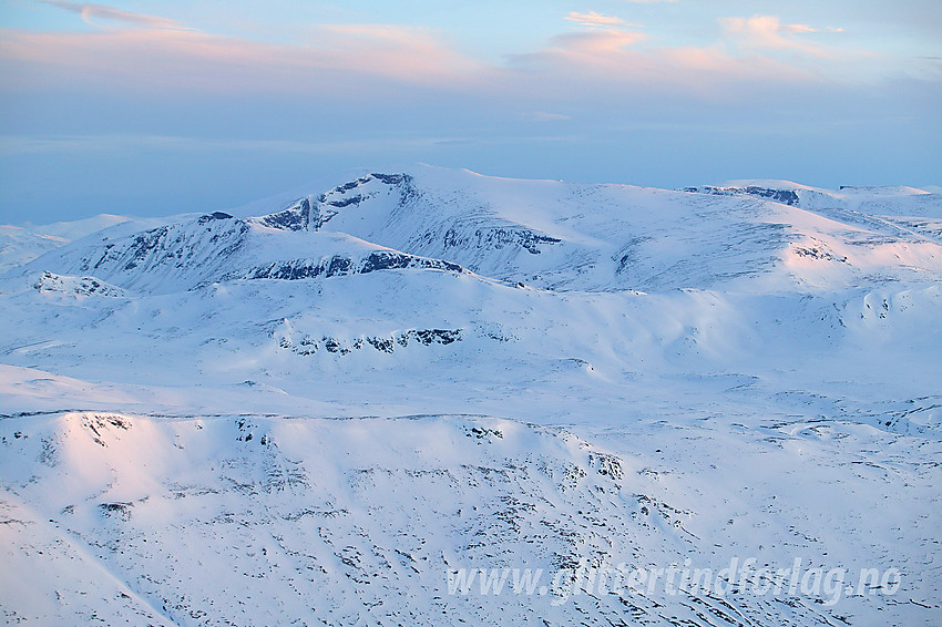
[{"label": "distant snowy mountain ridge with dark rocky cliffs along the skyline", "polygon": [[[887,277],[932,280],[942,271],[936,195],[881,188],[869,196],[897,214],[920,210],[905,222],[840,209],[849,197],[858,209],[867,205],[860,189],[706,189],[498,179],[428,167],[372,173],[259,217],[216,212],[142,233],[105,232],[28,270],[44,264],[145,292],[424,267],[432,259],[446,264],[441,269],[458,265],[500,281],[578,291],[793,290]],[[837,201],[826,208],[821,198]],[[905,202],[913,198],[926,201]],[[817,213],[799,208],[805,205]]]}]

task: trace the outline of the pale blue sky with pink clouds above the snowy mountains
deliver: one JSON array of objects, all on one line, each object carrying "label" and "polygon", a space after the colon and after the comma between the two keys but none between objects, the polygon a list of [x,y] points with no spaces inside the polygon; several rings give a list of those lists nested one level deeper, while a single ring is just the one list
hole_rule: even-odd
[{"label": "pale blue sky with pink clouds above the snowy mountains", "polygon": [[0,0],[0,223],[416,162],[920,187],[940,146],[940,0]]}]

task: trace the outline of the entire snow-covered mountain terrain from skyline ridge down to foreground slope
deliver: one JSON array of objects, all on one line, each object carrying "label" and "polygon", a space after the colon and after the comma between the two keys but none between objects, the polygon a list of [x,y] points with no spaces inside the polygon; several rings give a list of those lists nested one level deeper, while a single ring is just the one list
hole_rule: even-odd
[{"label": "entire snow-covered mountain terrain from skyline ridge down to foreground slope", "polygon": [[[942,196],[328,187],[11,257],[7,619],[932,624]],[[737,556],[902,579],[833,606],[448,590]]]}]

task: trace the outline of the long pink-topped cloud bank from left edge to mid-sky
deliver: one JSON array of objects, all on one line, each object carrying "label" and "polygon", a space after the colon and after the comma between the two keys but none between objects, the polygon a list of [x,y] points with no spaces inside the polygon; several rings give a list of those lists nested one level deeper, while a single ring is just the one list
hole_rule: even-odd
[{"label": "long pink-topped cloud bank from left edge to mid-sky", "polygon": [[156,28],[2,35],[8,90],[92,83],[121,90],[316,92],[330,99],[362,93],[370,86],[365,78],[448,88],[483,72],[481,62],[423,29],[386,24],[319,25],[306,44]]}]

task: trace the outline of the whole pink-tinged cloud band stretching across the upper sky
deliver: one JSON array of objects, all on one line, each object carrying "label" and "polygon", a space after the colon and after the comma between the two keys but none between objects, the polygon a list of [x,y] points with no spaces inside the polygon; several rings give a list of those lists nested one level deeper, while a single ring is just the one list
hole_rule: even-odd
[{"label": "whole pink-tinged cloud band stretching across the upper sky", "polygon": [[[559,34],[540,50],[494,64],[455,51],[432,31],[390,24],[317,25],[305,44],[150,27],[91,33],[8,30],[0,32],[0,65],[8,92],[80,84],[355,102],[422,97],[411,89],[422,88],[495,101],[531,94],[575,99],[601,91],[723,100],[741,93],[736,85],[751,85],[758,93],[772,76],[777,83],[810,83],[822,80],[828,68],[839,68],[840,59],[821,63],[820,50],[806,50],[810,44],[797,41],[812,31],[781,25],[772,17],[728,18],[723,32],[739,47],[654,47],[645,33],[602,25]],[[816,58],[776,54],[795,49]],[[544,106],[533,102],[518,111]]]}]

